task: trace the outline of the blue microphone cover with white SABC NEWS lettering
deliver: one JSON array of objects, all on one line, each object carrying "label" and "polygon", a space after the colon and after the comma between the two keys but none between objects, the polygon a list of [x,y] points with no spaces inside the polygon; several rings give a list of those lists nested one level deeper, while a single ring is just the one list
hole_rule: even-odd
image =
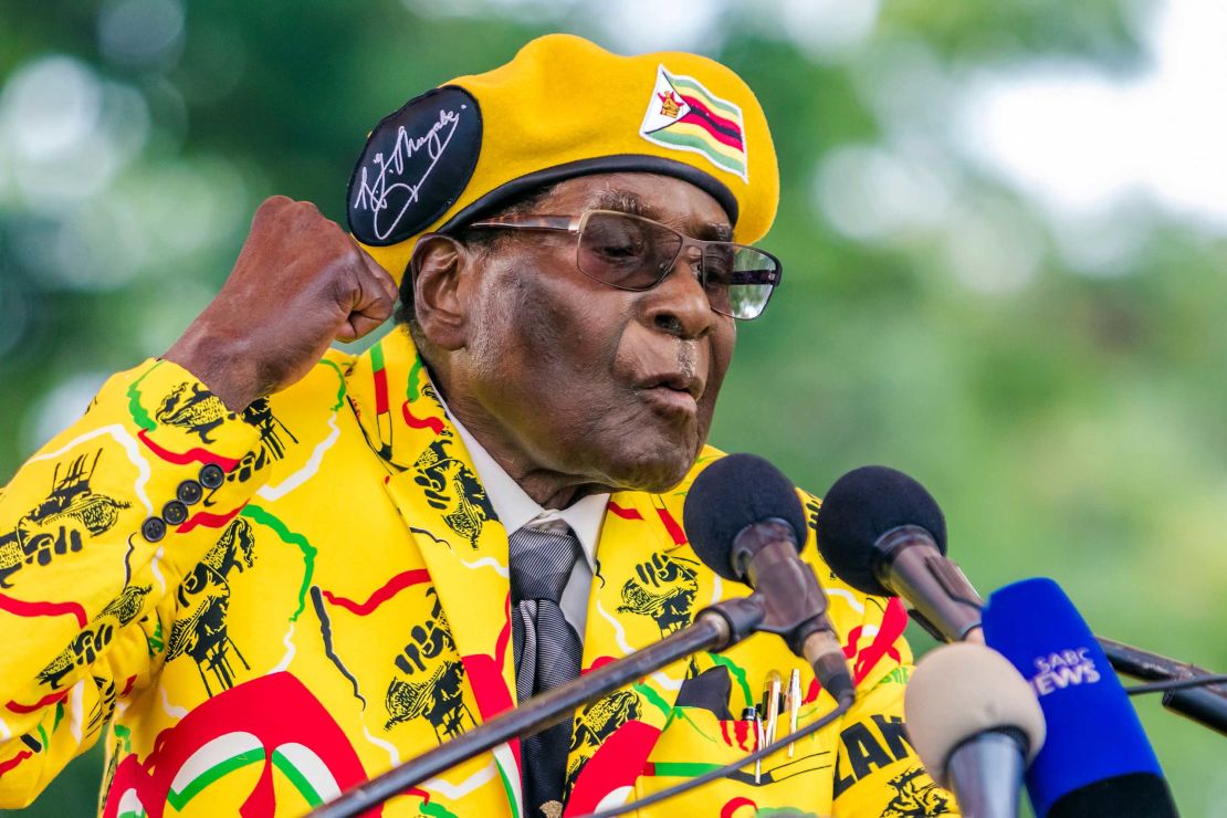
[{"label": "blue microphone cover with white SABC NEWS lettering", "polygon": [[1048,741],[1027,771],[1039,818],[1177,816],[1172,793],[1120,679],[1050,579],[994,591],[984,638],[1026,677]]}]

